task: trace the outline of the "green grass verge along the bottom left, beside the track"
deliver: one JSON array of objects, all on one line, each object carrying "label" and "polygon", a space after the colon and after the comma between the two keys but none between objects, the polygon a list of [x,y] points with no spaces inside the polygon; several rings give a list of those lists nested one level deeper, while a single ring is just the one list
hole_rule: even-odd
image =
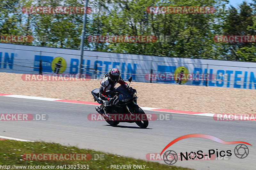
[{"label": "green grass verge along the bottom left, beside the track", "polygon": [[[24,160],[25,153],[89,153],[92,155],[91,160]],[[95,160],[96,159],[96,160]],[[157,162],[150,162],[140,159],[133,159],[122,157],[114,154],[97,152],[94,150],[79,149],[75,146],[64,146],[56,143],[45,142],[21,142],[14,140],[0,140],[0,169],[7,169],[7,166],[12,168],[12,165],[16,165],[13,169],[50,169],[47,166],[55,166],[51,169],[93,169],[93,170],[105,170],[111,169],[111,165],[131,165],[130,169],[133,169],[133,165],[141,165],[145,169],[163,170],[188,170],[188,168],[168,166],[166,164],[160,164]],[[59,165],[59,168],[57,166]],[[66,165],[66,166],[65,166]],[[68,165],[69,168],[68,168]],[[71,167],[71,165],[73,165]],[[79,165],[79,167],[78,167]],[[86,165],[86,166],[81,166]],[[5,166],[5,168],[3,167]],[[17,167],[17,166],[26,166]],[[37,168],[31,168],[30,166],[38,166]],[[41,166],[39,168],[39,166]],[[43,167],[44,166],[44,167]],[[76,166],[76,167],[75,167]],[[30,168],[29,168],[30,167]],[[45,168],[46,167],[46,168]],[[113,167],[112,167],[113,169]]]}]

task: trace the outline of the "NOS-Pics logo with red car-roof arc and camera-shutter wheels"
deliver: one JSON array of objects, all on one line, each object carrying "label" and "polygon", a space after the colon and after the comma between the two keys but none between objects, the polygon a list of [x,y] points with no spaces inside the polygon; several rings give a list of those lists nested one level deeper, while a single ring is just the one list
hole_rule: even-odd
[{"label": "NOS-Pics logo with red car-roof arc and camera-shutter wheels", "polygon": [[[172,142],[170,142],[168,145],[166,145],[164,147],[164,149],[162,150],[160,155],[162,155],[162,153],[168,147],[170,147],[172,144],[178,142],[179,140],[186,139],[186,138],[205,138],[205,139],[210,139],[210,140],[213,140],[215,142],[218,142],[218,143],[224,144],[224,145],[242,143],[242,144],[237,145],[234,150],[234,154],[236,155],[237,158],[240,158],[240,159],[246,158],[249,154],[249,148],[244,144],[251,145],[251,144],[249,144],[247,142],[243,142],[243,141],[227,142],[220,138],[217,138],[217,137],[214,137],[211,135],[206,135],[206,134],[189,134],[189,135],[184,135],[184,136],[174,139]],[[215,153],[216,153],[216,155],[215,155]],[[180,155],[180,158],[179,158],[179,155]],[[204,154],[203,151],[197,151],[197,152],[192,151],[189,153],[188,152],[186,152],[186,153],[180,152],[179,154],[177,154],[175,151],[169,150],[169,151],[164,152],[163,160],[166,164],[173,165],[178,160],[182,161],[182,160],[204,159],[205,156],[209,156],[209,158],[211,158],[212,156],[216,156],[217,158],[225,157],[225,156],[230,157],[231,155],[232,155],[231,150],[218,151],[218,149],[216,149],[216,151],[215,151],[214,149],[209,149],[207,154]]]}]

